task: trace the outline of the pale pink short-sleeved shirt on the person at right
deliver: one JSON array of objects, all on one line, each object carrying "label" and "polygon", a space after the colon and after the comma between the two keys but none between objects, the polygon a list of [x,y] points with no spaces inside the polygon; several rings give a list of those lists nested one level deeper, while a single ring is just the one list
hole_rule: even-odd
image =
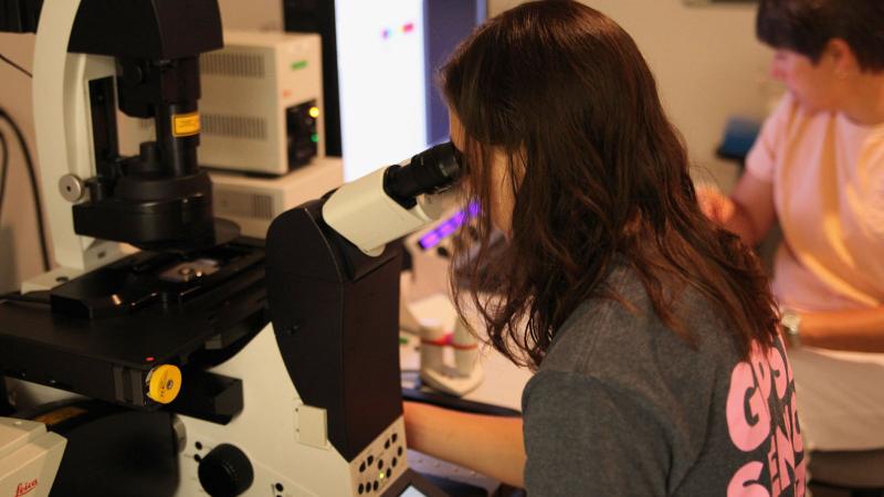
[{"label": "pale pink short-sleeved shirt on the person at right", "polygon": [[797,310],[884,305],[884,125],[806,112],[787,95],[747,158],[783,232],[774,293]]}]

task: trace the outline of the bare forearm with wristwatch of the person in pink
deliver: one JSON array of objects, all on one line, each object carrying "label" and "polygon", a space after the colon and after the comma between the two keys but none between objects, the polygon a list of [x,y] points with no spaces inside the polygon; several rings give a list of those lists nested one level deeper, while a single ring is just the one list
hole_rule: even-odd
[{"label": "bare forearm with wristwatch of the person in pink", "polygon": [[802,346],[884,352],[884,307],[801,313]]}]

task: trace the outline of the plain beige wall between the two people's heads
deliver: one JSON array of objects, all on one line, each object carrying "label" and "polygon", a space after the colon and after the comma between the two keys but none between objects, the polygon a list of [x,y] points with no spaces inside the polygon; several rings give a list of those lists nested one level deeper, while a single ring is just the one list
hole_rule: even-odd
[{"label": "plain beige wall between the two people's heads", "polygon": [[[715,157],[727,118],[761,118],[780,92],[770,51],[755,40],[755,4],[688,7],[683,0],[581,0],[620,23],[657,80],[670,118],[687,141],[694,177],[729,189],[738,170]],[[491,14],[520,0],[490,0]]]}]

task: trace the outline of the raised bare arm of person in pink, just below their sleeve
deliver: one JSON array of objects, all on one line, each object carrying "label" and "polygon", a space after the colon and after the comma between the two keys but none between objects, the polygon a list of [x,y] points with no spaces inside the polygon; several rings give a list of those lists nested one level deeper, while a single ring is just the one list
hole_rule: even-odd
[{"label": "raised bare arm of person in pink, just below their sleeve", "polygon": [[698,189],[697,197],[703,212],[739,235],[747,246],[759,244],[777,219],[772,183],[749,172],[743,175],[730,197],[711,188]]}]

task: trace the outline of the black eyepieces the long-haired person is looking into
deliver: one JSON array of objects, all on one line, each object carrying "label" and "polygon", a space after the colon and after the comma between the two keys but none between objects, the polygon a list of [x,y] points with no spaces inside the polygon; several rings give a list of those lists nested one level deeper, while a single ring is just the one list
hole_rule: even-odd
[{"label": "black eyepieces the long-haired person is looking into", "polygon": [[445,141],[412,157],[408,165],[387,168],[383,191],[403,208],[411,209],[418,195],[441,193],[460,177],[457,150],[451,141]]}]

